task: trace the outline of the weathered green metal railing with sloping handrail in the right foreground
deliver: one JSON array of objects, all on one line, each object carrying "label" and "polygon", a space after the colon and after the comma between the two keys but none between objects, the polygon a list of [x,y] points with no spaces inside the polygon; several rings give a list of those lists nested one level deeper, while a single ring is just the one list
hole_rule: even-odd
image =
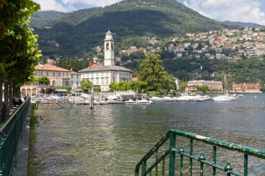
[{"label": "weathered green metal railing with sloping handrail in the right foreground", "polygon": [[[182,146],[179,146],[178,149],[176,148],[176,136],[181,136],[184,138],[188,138],[189,141],[189,152],[185,153]],[[161,157],[158,157],[158,150],[162,147],[165,147],[164,144],[169,140],[169,148],[165,150],[162,153]],[[206,157],[204,156],[204,153],[201,153],[199,156],[195,156],[193,153],[193,142],[194,141],[200,141],[202,143],[206,143],[207,145],[212,146],[213,148],[213,156],[212,161],[206,160]],[[221,149],[226,150],[232,150],[234,152],[240,152],[243,153],[243,167],[242,167],[242,173],[238,173],[236,171],[233,171],[232,164],[227,162],[225,166],[222,166],[217,163],[217,147],[220,147]],[[192,166],[194,161],[199,162],[199,175],[204,175],[204,165],[208,165],[212,167],[212,175],[216,175],[216,171],[220,171],[223,173],[226,173],[227,175],[237,175],[237,176],[247,176],[248,175],[248,156],[257,157],[259,159],[265,159],[265,151],[264,150],[255,150],[250,147],[243,147],[241,145],[236,145],[234,143],[227,143],[224,141],[218,141],[213,138],[207,138],[204,136],[199,136],[196,134],[190,134],[185,131],[179,131],[176,129],[170,129],[167,131],[167,134],[163,136],[158,143],[137,163],[135,167],[135,176],[139,176],[139,170],[142,166],[142,176],[144,175],[151,175],[152,170],[156,173],[156,176],[158,176],[158,163],[162,168],[161,175],[165,175],[165,158],[169,157],[169,176],[174,176],[176,173],[175,167],[176,167],[176,154],[179,154],[179,174],[180,176],[183,175],[183,157],[188,158],[189,160],[189,169],[188,169],[188,175],[192,175]],[[155,157],[155,161],[151,162],[151,157]],[[147,168],[146,163],[150,162],[151,165],[149,168]],[[161,164],[162,162],[162,164]],[[198,173],[196,173],[198,175]],[[208,174],[209,175],[209,174]],[[265,171],[264,171],[265,175]]]}]

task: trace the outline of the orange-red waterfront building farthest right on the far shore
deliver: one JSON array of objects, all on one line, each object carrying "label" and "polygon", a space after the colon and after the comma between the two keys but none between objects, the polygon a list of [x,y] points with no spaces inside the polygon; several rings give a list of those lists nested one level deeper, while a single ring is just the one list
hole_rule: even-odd
[{"label": "orange-red waterfront building farthest right on the far shore", "polygon": [[259,93],[260,86],[259,82],[257,83],[234,83],[233,90],[236,92],[245,92],[245,93]]}]

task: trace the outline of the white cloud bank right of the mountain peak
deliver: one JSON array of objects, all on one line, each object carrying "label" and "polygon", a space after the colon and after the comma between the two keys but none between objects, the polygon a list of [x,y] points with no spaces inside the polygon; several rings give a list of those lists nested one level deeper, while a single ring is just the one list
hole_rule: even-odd
[{"label": "white cloud bank right of the mountain peak", "polygon": [[185,6],[219,21],[254,22],[265,25],[258,0],[185,0]]}]

